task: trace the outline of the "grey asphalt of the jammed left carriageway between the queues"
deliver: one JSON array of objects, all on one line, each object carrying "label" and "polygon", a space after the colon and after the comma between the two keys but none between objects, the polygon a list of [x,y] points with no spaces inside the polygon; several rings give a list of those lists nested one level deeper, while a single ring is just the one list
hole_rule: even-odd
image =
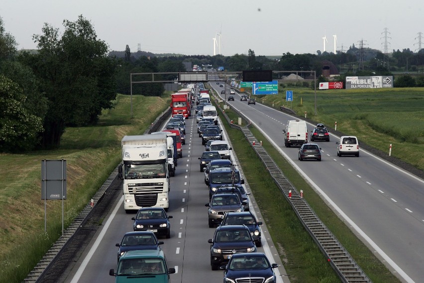
[{"label": "grey asphalt of the jammed left carriageway between the queues", "polygon": [[[194,111],[193,111],[194,114]],[[183,157],[179,158],[175,177],[171,177],[171,191],[169,193],[170,207],[168,215],[172,215],[171,238],[159,238],[163,241],[162,249],[165,252],[170,267],[176,269],[176,274],[171,274],[171,282],[192,283],[218,283],[222,282],[223,272],[212,271],[210,265],[210,244],[214,228],[208,225],[208,208],[205,204],[209,201],[209,189],[204,182],[204,173],[199,170],[199,159],[205,146],[198,137],[195,116],[186,120],[186,144],[183,145]],[[227,139],[224,132],[224,139]],[[236,156],[232,161],[237,162]],[[242,168],[240,169],[243,177]],[[246,177],[244,177],[246,179]],[[248,183],[247,191],[250,192]],[[125,232],[132,231],[131,217],[126,214],[121,196],[112,204],[112,211],[105,219],[102,229],[93,238],[84,254],[77,260],[66,283],[88,282],[114,282],[114,277],[109,276],[109,269],[116,270],[116,243],[119,243]],[[254,211],[258,221],[263,221],[254,196],[250,195],[251,211]],[[275,269],[278,283],[289,283],[284,267],[278,253],[267,232],[266,225],[262,228],[262,247],[259,252],[264,252],[271,263],[277,263]]]}]

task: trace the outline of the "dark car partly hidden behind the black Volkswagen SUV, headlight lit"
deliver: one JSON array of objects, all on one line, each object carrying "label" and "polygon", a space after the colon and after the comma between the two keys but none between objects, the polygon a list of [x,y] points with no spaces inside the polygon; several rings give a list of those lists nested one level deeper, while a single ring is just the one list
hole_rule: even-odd
[{"label": "dark car partly hidden behind the black Volkswagen SUV, headlight lit", "polygon": [[261,247],[261,227],[262,222],[256,221],[255,216],[250,211],[228,212],[221,221],[221,225],[246,225],[250,230],[256,247]]}]

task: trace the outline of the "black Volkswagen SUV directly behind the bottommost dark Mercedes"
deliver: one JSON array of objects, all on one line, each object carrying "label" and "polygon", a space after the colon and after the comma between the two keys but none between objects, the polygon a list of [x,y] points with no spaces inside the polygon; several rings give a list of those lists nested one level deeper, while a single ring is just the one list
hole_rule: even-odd
[{"label": "black Volkswagen SUV directly behind the bottommost dark Mercedes", "polygon": [[226,265],[235,254],[256,252],[249,228],[245,225],[218,226],[208,243],[211,244],[212,270]]}]

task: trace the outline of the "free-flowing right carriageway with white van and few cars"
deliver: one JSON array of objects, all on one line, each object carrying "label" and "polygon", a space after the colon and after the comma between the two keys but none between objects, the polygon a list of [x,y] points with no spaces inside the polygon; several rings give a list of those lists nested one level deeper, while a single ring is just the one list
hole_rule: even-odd
[{"label": "free-flowing right carriageway with white van and few cars", "polygon": [[[214,84],[212,87],[218,94],[223,89]],[[287,121],[297,118],[261,105],[260,99],[256,105],[247,105],[238,94],[234,98],[227,104],[245,115],[279,148],[392,273],[398,273],[404,282],[423,282],[423,179],[363,149],[360,157],[338,157],[331,129],[330,142],[316,142],[322,148],[322,161],[299,161],[298,149],[286,148],[282,133]],[[309,124],[308,131],[313,127]]]}]

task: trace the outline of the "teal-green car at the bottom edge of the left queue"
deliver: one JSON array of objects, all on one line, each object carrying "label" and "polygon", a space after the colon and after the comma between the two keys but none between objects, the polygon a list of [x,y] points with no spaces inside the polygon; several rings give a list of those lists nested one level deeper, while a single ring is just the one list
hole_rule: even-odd
[{"label": "teal-green car at the bottom edge of the left queue", "polygon": [[115,277],[115,283],[167,283],[173,273],[175,268],[168,268],[161,250],[125,252],[119,258],[116,273],[113,269],[109,270],[109,275]]}]

